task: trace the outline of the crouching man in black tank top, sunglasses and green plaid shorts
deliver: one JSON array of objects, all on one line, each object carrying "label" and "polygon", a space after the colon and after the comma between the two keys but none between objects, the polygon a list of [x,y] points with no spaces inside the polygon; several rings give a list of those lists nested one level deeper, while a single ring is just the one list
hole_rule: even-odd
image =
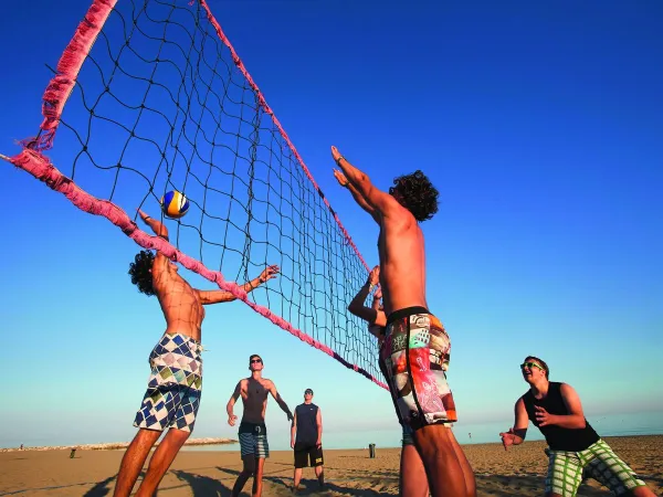
[{"label": "crouching man in black tank top, sunglasses and green plaid shorts", "polygon": [[529,421],[544,434],[550,447],[547,497],[573,497],[583,477],[594,478],[615,495],[654,497],[587,422],[571,385],[548,381],[548,364],[534,356],[525,359],[520,370],[529,390],[516,402],[514,427],[499,436],[505,450],[520,445]]}]

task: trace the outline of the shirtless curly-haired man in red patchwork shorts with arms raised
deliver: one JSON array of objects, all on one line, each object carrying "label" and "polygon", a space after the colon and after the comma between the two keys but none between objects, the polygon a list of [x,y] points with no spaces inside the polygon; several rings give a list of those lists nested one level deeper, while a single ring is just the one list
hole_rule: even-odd
[{"label": "shirtless curly-haired man in red patchwork shorts with arms raised", "polygon": [[380,286],[387,316],[380,349],[396,413],[413,430],[433,497],[474,496],[474,473],[449,425],[455,404],[446,382],[451,341],[425,299],[425,254],[419,222],[438,212],[438,190],[421,171],[393,180],[389,193],[332,147],[337,181],[380,226]]}]

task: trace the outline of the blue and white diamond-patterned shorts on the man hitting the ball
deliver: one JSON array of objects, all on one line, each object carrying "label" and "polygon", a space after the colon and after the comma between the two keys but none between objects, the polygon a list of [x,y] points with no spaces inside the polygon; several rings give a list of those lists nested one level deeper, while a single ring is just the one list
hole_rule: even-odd
[{"label": "blue and white diamond-patterned shorts on the man hitting the ball", "polygon": [[202,346],[182,334],[166,334],[149,355],[151,373],[134,426],[192,432],[202,389]]}]

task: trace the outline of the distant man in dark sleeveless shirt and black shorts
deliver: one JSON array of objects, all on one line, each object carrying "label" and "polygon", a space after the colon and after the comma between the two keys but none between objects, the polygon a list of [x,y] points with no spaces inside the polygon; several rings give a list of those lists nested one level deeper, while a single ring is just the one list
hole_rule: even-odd
[{"label": "distant man in dark sleeveless shirt and black shorts", "polygon": [[295,476],[293,490],[299,489],[302,469],[315,467],[319,488],[325,486],[323,468],[323,414],[313,403],[313,390],[304,390],[304,403],[295,408],[295,419],[291,429],[291,447],[295,450]]}]

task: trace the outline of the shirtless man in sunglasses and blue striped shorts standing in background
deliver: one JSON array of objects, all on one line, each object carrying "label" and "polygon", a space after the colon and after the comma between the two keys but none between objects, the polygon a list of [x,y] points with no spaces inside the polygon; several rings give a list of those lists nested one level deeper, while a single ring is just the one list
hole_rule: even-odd
[{"label": "shirtless man in sunglasses and blue striped shorts standing in background", "polygon": [[239,381],[225,406],[228,424],[234,426],[238,416],[234,415],[233,408],[240,395],[242,396],[244,412],[240,423],[239,438],[244,467],[232,488],[232,497],[240,495],[244,484],[251,476],[253,476],[251,495],[260,497],[262,494],[265,458],[270,457],[270,444],[267,443],[267,429],[265,426],[269,393],[272,394],[278,406],[287,415],[287,420],[293,420],[293,414],[276,391],[274,382],[262,377],[263,360],[260,356],[253,355],[249,358],[249,370],[251,376]]}]

